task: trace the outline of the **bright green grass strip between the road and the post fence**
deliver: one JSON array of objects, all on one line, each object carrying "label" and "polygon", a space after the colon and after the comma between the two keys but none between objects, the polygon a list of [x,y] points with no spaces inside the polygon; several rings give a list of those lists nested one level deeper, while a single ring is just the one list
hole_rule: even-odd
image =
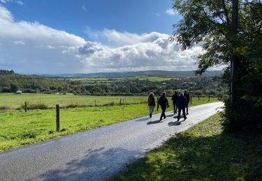
[{"label": "bright green grass strip between the road and the post fence", "polygon": [[[210,100],[215,102],[216,100]],[[208,103],[195,101],[193,105]],[[172,108],[169,107],[168,111]],[[124,115],[123,115],[124,112]],[[159,111],[160,112],[160,109]],[[157,113],[155,111],[154,113]],[[131,104],[123,107],[85,107],[61,109],[60,129],[55,132],[55,110],[6,111],[0,113],[0,152],[21,145],[45,141],[113,123],[148,115],[147,104]]]}]

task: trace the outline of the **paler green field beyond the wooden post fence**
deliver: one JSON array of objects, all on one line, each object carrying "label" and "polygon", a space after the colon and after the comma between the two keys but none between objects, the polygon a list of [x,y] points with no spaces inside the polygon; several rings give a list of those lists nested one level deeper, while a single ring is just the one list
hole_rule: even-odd
[{"label": "paler green field beyond the wooden post fence", "polygon": [[94,106],[105,104],[119,104],[124,99],[125,104],[138,104],[147,101],[145,96],[90,96],[90,95],[59,95],[59,94],[29,94],[16,95],[13,93],[0,94],[0,107],[17,109],[24,106],[24,102],[30,104],[47,104],[54,108],[55,104],[60,107],[76,104],[79,106]]}]

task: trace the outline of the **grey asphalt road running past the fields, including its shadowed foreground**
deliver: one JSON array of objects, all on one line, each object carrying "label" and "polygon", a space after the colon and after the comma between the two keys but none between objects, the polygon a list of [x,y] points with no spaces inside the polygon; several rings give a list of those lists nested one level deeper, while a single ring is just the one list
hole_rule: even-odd
[{"label": "grey asphalt road running past the fields, including its shadowed foreground", "polygon": [[0,154],[0,180],[106,180],[174,134],[217,112],[223,103],[191,107],[186,121],[159,114]]}]

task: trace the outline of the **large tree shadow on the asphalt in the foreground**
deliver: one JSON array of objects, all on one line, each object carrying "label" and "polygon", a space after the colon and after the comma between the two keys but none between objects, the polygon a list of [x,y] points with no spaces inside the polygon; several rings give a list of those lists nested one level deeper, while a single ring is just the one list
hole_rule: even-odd
[{"label": "large tree shadow on the asphalt in the foreground", "polygon": [[48,181],[106,180],[124,170],[126,162],[133,162],[140,157],[142,157],[140,152],[124,148],[88,150],[85,157],[66,163],[66,168],[53,169],[39,175],[39,177],[41,180]]}]

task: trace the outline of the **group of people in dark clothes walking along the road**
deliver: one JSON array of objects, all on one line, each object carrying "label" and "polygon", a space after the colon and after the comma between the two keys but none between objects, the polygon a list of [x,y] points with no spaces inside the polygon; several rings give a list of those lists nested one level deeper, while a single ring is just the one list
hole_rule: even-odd
[{"label": "group of people in dark clothes walking along the road", "polygon": [[[190,96],[188,91],[184,90],[184,94],[175,91],[171,100],[173,103],[174,115],[178,111],[177,122],[180,120],[181,111],[183,113],[184,120],[186,120],[187,119],[186,111],[187,114],[189,114],[189,101],[190,101]],[[162,109],[162,113],[160,116],[160,120],[162,120],[163,118],[164,119],[166,118],[166,114],[165,114],[166,108],[169,107],[168,99],[166,98],[165,92],[163,92],[162,95],[159,97],[159,105]],[[156,101],[154,100],[154,93],[150,93],[150,95],[148,96],[148,107],[150,109],[150,118],[152,118],[154,107],[156,107]]]}]

